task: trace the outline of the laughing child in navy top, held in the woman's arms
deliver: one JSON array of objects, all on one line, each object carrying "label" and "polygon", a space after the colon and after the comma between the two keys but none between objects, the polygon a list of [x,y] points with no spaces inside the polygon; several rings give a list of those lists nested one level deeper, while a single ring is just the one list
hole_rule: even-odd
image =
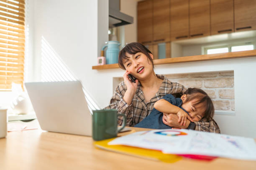
[{"label": "laughing child in navy top, held in the woman's arms", "polygon": [[211,120],[214,115],[214,105],[212,100],[201,89],[189,88],[184,92],[181,98],[175,98],[168,94],[162,97],[154,104],[152,112],[134,127],[151,129],[172,128],[166,124],[163,113],[177,114],[178,122],[185,126],[187,119],[191,122],[198,122],[202,118]]}]

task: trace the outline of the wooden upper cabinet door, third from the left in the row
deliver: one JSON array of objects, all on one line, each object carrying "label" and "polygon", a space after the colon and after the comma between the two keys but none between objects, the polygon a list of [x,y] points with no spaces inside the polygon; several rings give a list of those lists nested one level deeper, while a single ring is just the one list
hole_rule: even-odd
[{"label": "wooden upper cabinet door, third from the left in the row", "polygon": [[171,0],[171,39],[189,38],[189,0]]}]

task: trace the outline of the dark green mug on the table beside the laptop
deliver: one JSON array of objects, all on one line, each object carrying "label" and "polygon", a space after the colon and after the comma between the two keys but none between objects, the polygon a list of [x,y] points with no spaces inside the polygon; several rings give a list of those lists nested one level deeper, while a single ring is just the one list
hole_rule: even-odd
[{"label": "dark green mug on the table beside the laptop", "polygon": [[[123,117],[123,124],[118,128],[118,116]],[[126,117],[118,114],[115,109],[92,110],[92,138],[93,140],[104,140],[117,137],[118,132],[125,128]]]}]

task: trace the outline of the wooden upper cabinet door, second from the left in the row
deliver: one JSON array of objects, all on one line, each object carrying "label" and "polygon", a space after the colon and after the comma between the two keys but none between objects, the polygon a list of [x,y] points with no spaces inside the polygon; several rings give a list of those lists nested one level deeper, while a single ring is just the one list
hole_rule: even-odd
[{"label": "wooden upper cabinet door, second from the left in the row", "polygon": [[170,40],[169,0],[153,0],[153,41]]}]

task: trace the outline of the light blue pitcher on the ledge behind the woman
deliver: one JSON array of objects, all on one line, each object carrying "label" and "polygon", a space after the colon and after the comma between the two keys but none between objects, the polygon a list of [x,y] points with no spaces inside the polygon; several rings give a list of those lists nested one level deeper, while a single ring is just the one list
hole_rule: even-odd
[{"label": "light blue pitcher on the ledge behind the woman", "polygon": [[106,51],[106,64],[115,64],[118,63],[118,53],[120,43],[118,41],[108,41],[108,45],[104,45],[101,50],[104,50],[108,47]]}]

